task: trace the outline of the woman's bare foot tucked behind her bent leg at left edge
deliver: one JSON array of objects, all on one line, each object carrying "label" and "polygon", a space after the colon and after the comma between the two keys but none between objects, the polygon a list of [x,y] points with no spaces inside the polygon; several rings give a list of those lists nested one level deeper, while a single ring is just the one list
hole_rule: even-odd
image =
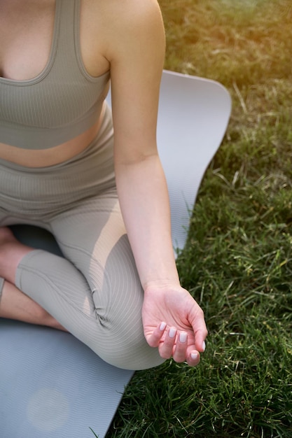
[{"label": "woman's bare foot tucked behind her bent leg at left edge", "polygon": [[33,248],[23,245],[8,227],[0,228],[0,276],[10,283],[15,282],[15,271],[22,257]]}]

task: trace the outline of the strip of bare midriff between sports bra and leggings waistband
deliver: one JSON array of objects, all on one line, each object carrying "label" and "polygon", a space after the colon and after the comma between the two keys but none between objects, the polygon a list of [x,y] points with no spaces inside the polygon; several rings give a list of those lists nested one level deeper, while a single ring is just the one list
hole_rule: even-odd
[{"label": "strip of bare midriff between sports bra and leggings waistband", "polygon": [[0,160],[13,162],[24,167],[47,167],[60,164],[75,157],[85,150],[93,139],[97,136],[102,118],[104,117],[104,107],[99,120],[87,131],[76,136],[74,139],[66,141],[53,148],[32,150],[22,149],[15,146],[0,143]]}]

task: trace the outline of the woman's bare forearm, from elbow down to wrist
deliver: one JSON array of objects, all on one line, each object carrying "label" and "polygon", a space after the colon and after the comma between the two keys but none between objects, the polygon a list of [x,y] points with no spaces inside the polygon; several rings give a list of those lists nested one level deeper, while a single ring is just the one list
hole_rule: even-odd
[{"label": "woman's bare forearm, from elbow down to wrist", "polygon": [[120,207],[146,290],[151,285],[179,285],[172,248],[169,198],[158,155],[116,164]]}]

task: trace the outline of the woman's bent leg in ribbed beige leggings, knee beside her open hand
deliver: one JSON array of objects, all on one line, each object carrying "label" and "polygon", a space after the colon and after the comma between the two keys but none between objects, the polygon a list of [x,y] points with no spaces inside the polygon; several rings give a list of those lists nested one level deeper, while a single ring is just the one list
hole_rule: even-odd
[{"label": "woman's bent leg in ribbed beige leggings, knee beside her open hand", "polygon": [[143,291],[116,192],[88,199],[50,221],[66,260],[25,254],[16,285],[106,362],[144,369],[163,362],[144,338]]}]

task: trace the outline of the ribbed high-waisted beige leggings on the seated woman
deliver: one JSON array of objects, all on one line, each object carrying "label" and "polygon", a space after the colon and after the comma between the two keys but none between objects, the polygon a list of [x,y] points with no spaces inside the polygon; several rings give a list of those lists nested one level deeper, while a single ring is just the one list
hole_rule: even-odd
[{"label": "ribbed high-waisted beige leggings on the seated woman", "polygon": [[73,160],[41,169],[0,161],[0,225],[43,227],[64,255],[39,249],[25,255],[15,280],[22,292],[106,362],[146,369],[163,360],[144,338],[143,290],[120,213],[112,157],[107,108],[97,139]]}]

